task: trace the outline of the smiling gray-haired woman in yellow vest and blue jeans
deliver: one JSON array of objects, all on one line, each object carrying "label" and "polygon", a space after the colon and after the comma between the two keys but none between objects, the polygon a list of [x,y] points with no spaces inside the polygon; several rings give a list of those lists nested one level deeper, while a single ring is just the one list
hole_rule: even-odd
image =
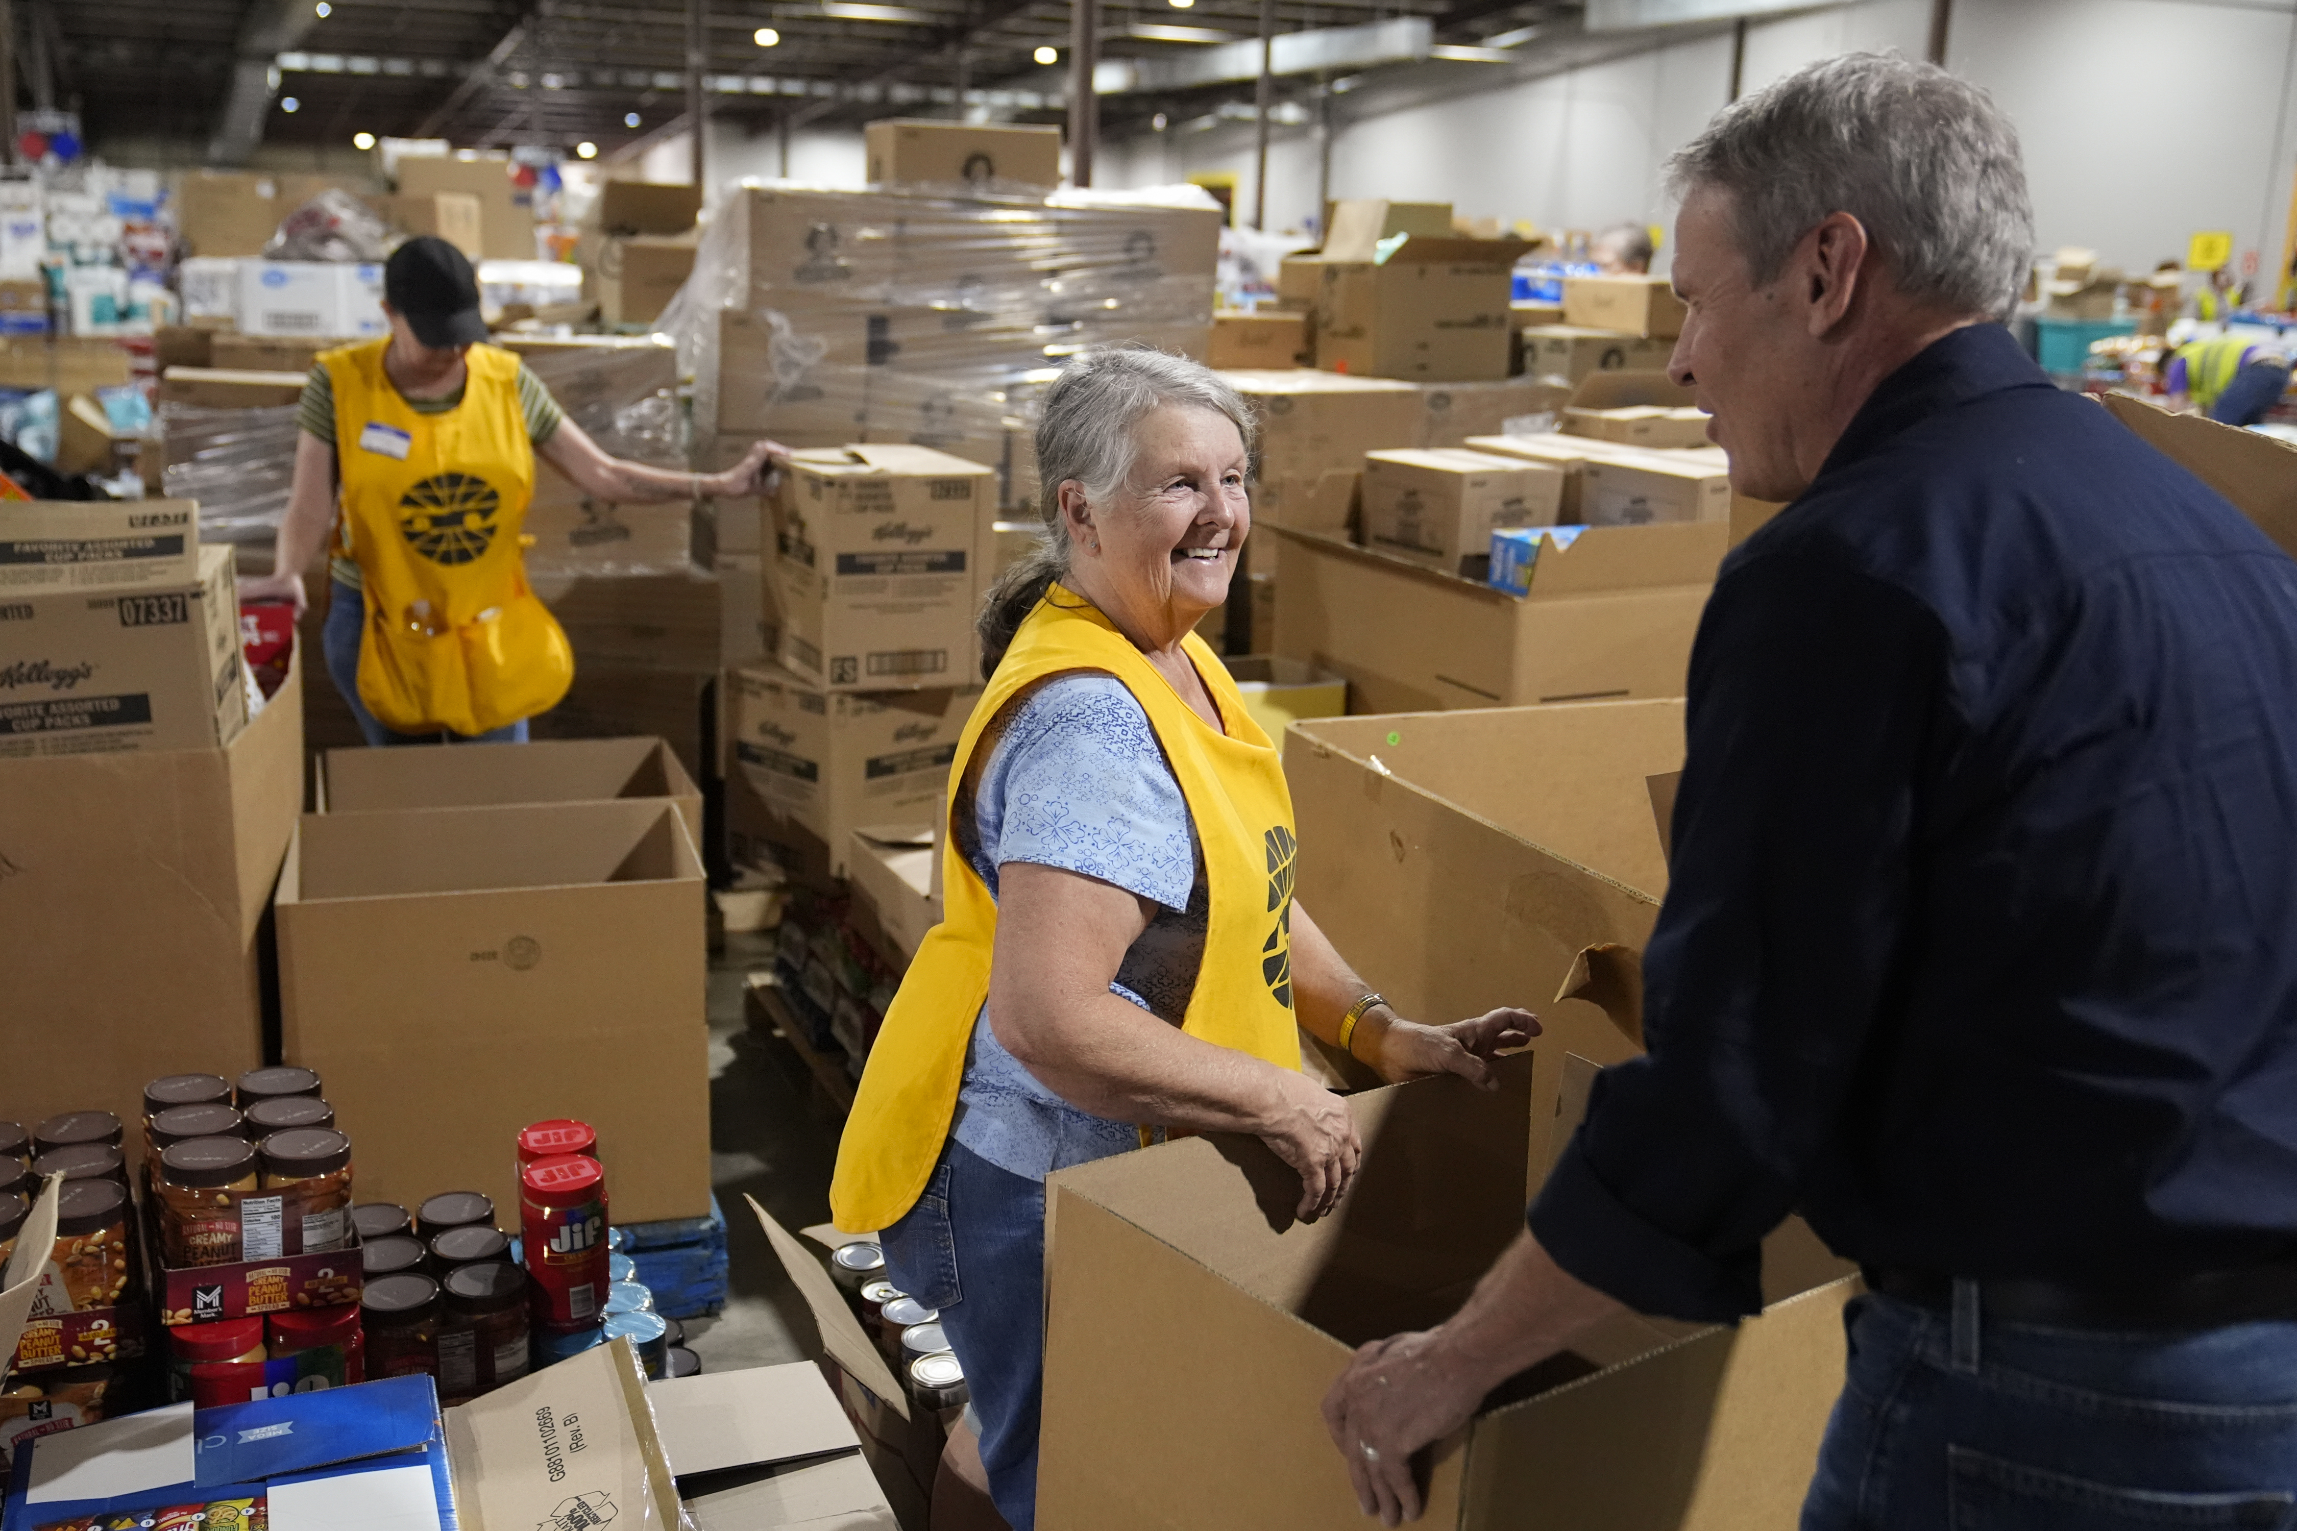
[{"label": "smiling gray-haired woman in yellow vest and blue jeans", "polygon": [[1045,539],[981,613],[988,691],[958,746],[946,918],[871,1049],[832,1212],[939,1311],[1015,1529],[1036,1517],[1045,1175],[1167,1132],[1245,1132],[1300,1219],[1358,1166],[1300,1026],[1383,1079],[1456,1072],[1537,1028],[1417,1026],[1293,900],[1275,744],[1194,636],[1252,530],[1245,402],[1192,360],[1070,363],[1036,432]]}]

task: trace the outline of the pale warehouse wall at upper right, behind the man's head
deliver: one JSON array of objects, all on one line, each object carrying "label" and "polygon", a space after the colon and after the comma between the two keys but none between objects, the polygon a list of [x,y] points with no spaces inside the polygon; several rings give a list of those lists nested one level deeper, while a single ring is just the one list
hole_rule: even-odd
[{"label": "pale warehouse wall at upper right, behind the man's head", "polygon": [[[1927,37],[1929,0],[1757,21],[1743,87],[1858,48],[1920,57]],[[2182,257],[2187,234],[2230,227],[2237,248],[2274,264],[2297,181],[2297,0],[1957,0],[1948,64],[2017,119],[2042,248],[2095,246],[2150,269]],[[1461,213],[1601,227],[1663,216],[1661,165],[1725,103],[1730,39],[1498,90],[1477,90],[1472,64],[1449,76],[1461,94],[1341,124],[1332,195],[1438,197]],[[1233,172],[1238,207],[1252,207],[1250,124],[1109,145],[1103,179],[1146,186],[1206,170]],[[1314,216],[1314,131],[1275,135],[1268,181],[1273,227]]]}]

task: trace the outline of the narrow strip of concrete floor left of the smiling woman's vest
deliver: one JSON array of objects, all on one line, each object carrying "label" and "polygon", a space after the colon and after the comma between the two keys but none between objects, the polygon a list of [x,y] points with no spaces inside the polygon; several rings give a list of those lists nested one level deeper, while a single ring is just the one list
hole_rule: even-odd
[{"label": "narrow strip of concrete floor left of the smiling woman's vest", "polygon": [[733,1290],[717,1318],[685,1320],[705,1373],[820,1354],[813,1315],[742,1203],[744,1191],[756,1196],[792,1233],[829,1221],[843,1127],[797,1054],[742,1015],[742,976],[772,962],[772,932],[726,937],[710,957],[710,1180],[726,1212]]}]

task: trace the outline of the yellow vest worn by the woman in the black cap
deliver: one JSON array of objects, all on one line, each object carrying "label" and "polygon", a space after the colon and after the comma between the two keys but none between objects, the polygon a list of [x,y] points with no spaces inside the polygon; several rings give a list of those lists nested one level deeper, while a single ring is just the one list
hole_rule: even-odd
[{"label": "yellow vest worn by the woman in the black cap", "polygon": [[549,712],[574,679],[565,631],[526,585],[535,450],[519,358],[471,347],[462,404],[418,415],[384,376],[388,347],[319,356],[365,583],[358,698],[400,732],[482,735]]}]

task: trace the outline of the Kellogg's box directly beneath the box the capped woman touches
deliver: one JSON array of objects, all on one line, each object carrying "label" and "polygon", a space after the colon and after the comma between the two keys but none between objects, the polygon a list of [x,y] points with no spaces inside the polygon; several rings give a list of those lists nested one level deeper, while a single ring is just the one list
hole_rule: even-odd
[{"label": "Kellogg's box directly beneath the box the capped woman touches", "polygon": [[783,668],[726,673],[733,767],[797,870],[843,877],[857,829],[930,826],[981,686],[822,691]]}]

